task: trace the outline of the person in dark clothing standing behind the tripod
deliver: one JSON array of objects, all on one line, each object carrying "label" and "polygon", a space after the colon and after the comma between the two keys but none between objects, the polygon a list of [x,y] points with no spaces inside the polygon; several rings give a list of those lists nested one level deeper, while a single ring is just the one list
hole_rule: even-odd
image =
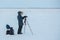
[{"label": "person in dark clothing standing behind the tripod", "polygon": [[22,14],[23,14],[22,11],[18,11],[17,19],[18,19],[19,28],[18,28],[18,33],[17,34],[22,34],[23,20],[27,17],[27,16],[22,17]]}]

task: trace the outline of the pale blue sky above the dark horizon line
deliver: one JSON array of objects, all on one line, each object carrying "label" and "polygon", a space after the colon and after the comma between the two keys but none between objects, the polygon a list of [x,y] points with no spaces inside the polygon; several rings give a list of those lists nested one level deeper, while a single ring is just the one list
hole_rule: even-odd
[{"label": "pale blue sky above the dark horizon line", "polygon": [[0,0],[0,8],[60,8],[60,0]]}]

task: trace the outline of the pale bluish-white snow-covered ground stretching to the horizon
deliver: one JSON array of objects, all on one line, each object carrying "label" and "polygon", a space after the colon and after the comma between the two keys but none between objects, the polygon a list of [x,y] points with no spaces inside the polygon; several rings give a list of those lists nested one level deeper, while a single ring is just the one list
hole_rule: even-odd
[{"label": "pale bluish-white snow-covered ground stretching to the horizon", "polygon": [[[28,25],[25,33],[23,27],[23,34],[17,34],[18,11],[28,16],[33,35]],[[15,35],[6,35],[6,24],[14,28]],[[0,40],[60,40],[60,9],[0,9]]]}]

